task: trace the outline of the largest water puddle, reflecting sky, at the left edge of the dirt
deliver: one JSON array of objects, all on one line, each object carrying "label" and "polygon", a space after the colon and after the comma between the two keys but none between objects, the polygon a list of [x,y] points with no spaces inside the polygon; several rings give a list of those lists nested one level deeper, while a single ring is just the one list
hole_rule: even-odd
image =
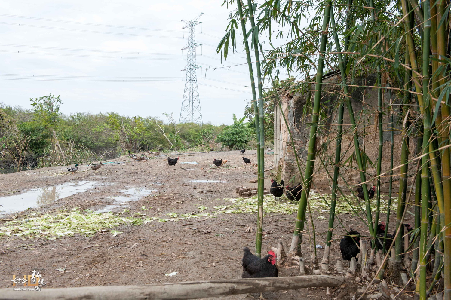
[{"label": "largest water puddle, reflecting sky, at the left edge of the dirt", "polygon": [[73,194],[86,192],[95,185],[97,185],[97,182],[93,181],[78,181],[78,183],[68,182],[62,185],[25,190],[22,194],[18,195],[1,197],[0,215],[11,212],[21,212],[27,208],[46,205]]}]

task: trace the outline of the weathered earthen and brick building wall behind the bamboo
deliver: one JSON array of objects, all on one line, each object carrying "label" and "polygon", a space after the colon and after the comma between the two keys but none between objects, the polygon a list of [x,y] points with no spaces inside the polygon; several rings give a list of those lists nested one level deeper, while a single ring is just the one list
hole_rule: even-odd
[{"label": "weathered earthen and brick building wall behind the bamboo", "polygon": [[[336,149],[336,124],[338,123],[338,109],[337,100],[340,94],[340,87],[336,85],[338,80],[341,80],[338,76],[333,75],[329,78],[323,79],[323,92],[322,92],[322,113],[320,114],[317,135],[317,155],[315,162],[315,171],[313,175],[312,189],[327,189],[331,186],[331,176],[333,176],[333,167],[331,164],[335,161],[335,149]],[[371,75],[364,80],[364,84],[372,86],[375,82],[375,76]],[[313,94],[313,92],[312,92]],[[389,102],[389,94],[384,94],[385,101]],[[304,106],[309,101],[306,101],[306,94],[281,94],[280,101],[282,110],[276,103],[274,109],[274,170],[281,171],[281,178],[287,183],[290,179],[295,177],[294,182],[302,182],[299,177],[299,169],[295,160],[295,153],[292,147],[291,135],[293,136],[295,149],[300,158],[300,165],[302,174],[305,171],[305,160],[307,159],[307,148],[310,134],[311,115],[303,115]],[[374,125],[377,122],[375,116],[377,115],[377,88],[356,88],[352,92],[352,106],[354,109],[354,117],[356,122],[359,123],[359,143],[360,148],[364,149],[364,152],[368,156],[369,160],[373,162],[374,166],[377,166],[377,154],[379,147],[379,134],[378,127]],[[393,103],[395,104],[396,112],[399,112],[399,100],[393,97]],[[364,110],[362,110],[364,108]],[[311,109],[309,109],[311,111]],[[283,118],[285,115],[288,128],[285,125]],[[390,170],[390,131],[391,121],[390,116],[387,113],[382,116],[383,122],[383,152],[382,152],[382,172]],[[350,132],[350,116],[345,106],[344,119],[343,119],[343,135],[341,144],[341,176],[339,179],[339,185],[342,189],[347,189],[348,185],[356,185],[360,180],[357,162],[355,159],[348,160],[354,154],[354,142],[352,140],[353,135]],[[375,132],[376,130],[376,132]],[[398,166],[400,164],[400,148],[401,148],[401,135],[398,118],[395,115],[395,137],[394,137],[394,153],[393,153],[393,165]],[[410,138],[410,157],[413,157],[416,153],[416,139]],[[355,155],[354,155],[355,157]],[[412,173],[415,165],[412,163],[409,165],[409,172]],[[367,180],[376,175],[376,168],[370,166],[368,163]],[[393,189],[397,190],[399,187],[399,169],[394,171]],[[348,185],[345,183],[348,183]],[[389,177],[382,177],[382,191],[388,191]],[[372,180],[375,185],[376,180]],[[410,182],[409,182],[410,184]]]}]

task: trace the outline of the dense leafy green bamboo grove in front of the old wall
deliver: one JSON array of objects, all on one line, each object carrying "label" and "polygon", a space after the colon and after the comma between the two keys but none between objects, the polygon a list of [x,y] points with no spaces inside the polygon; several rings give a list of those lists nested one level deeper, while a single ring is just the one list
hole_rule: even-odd
[{"label": "dense leafy green bamboo grove in front of the old wall", "polygon": [[[321,263],[323,269],[329,268],[333,230],[339,227],[349,230],[339,218],[337,221],[335,209],[337,199],[344,195],[339,180],[351,190],[355,186],[345,179],[343,171],[345,152],[351,151],[364,191],[364,204],[358,213],[361,222],[368,226],[368,247],[372,249],[371,257],[382,255],[373,272],[373,281],[390,277],[401,286],[413,284],[419,298],[424,300],[431,292],[441,289],[443,299],[451,300],[451,18],[448,1],[267,0],[257,3],[229,0],[224,5],[233,11],[217,51],[227,59],[230,51],[244,48],[253,91],[259,146],[257,254],[261,254],[264,211],[263,80],[271,83],[283,74],[290,74],[295,79],[279,92],[277,100],[287,93],[307,95],[304,115],[308,116],[310,131],[305,141],[307,155],[302,162],[297,153],[299,149],[293,143],[304,189],[290,255],[303,256],[300,245],[303,233],[307,232],[304,227],[308,226],[305,220],[309,192],[314,185],[313,173],[315,168],[323,167],[332,170],[329,174],[329,231]],[[323,74],[328,72],[334,72],[339,78],[333,103],[334,126],[327,125],[330,115],[326,107],[332,104],[323,103]],[[371,74],[375,80],[369,83],[365,78]],[[257,87],[254,78],[257,78]],[[354,111],[355,91],[365,88],[377,91],[377,107]],[[280,101],[275,103],[280,106]],[[343,124],[345,110],[350,122],[347,127]],[[286,123],[285,115],[283,119]],[[367,146],[362,143],[369,134],[362,131],[365,124],[372,125],[374,138],[379,137],[376,162],[368,162]],[[383,142],[384,131],[390,143]],[[328,137],[320,148],[317,147],[318,133]],[[345,134],[352,137],[350,149],[342,148]],[[292,141],[291,133],[289,135]],[[395,135],[401,138],[401,146],[396,149]],[[324,150],[327,147],[335,148],[335,154],[327,156]],[[384,149],[387,147],[389,149]],[[382,170],[384,151],[391,153],[391,163],[389,169]],[[393,163],[394,153],[399,155],[400,164]],[[374,166],[375,174],[367,172],[368,165]],[[414,167],[409,169],[409,166]],[[399,189],[394,188],[394,180],[398,181]],[[382,182],[387,181],[388,206],[384,209],[388,213],[382,220],[380,188]],[[377,185],[376,202],[371,203],[367,192],[370,182]],[[391,203],[396,206],[392,214]],[[406,214],[411,212],[414,226],[410,240],[406,240],[408,235],[403,224]],[[376,233],[376,226],[382,221],[387,225],[383,238]],[[393,243],[386,239],[389,224],[393,228],[396,224]],[[375,249],[377,240],[384,244],[380,251]],[[396,278],[390,274],[390,269],[396,265],[407,277]]]}]

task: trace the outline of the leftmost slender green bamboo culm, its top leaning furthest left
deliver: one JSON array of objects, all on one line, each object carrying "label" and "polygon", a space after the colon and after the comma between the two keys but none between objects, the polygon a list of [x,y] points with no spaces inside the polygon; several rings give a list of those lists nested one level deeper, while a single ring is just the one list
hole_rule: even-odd
[{"label": "leftmost slender green bamboo culm, its top leaning furthest left", "polygon": [[[260,149],[260,141],[261,141],[261,136],[260,136],[260,118],[259,118],[259,113],[258,113],[258,106],[257,106],[257,95],[255,93],[255,81],[254,81],[254,76],[253,76],[253,67],[252,67],[252,60],[251,60],[251,55],[250,55],[250,50],[249,50],[249,42],[248,42],[248,37],[246,34],[246,24],[244,22],[244,15],[243,15],[243,6],[241,3],[241,0],[237,1],[237,7],[238,7],[238,14],[239,14],[239,19],[240,19],[240,23],[241,23],[241,31],[243,33],[243,42],[244,42],[244,48],[246,50],[246,60],[249,66],[249,76],[251,78],[251,88],[252,88],[252,104],[253,104],[253,108],[254,108],[254,115],[255,115],[255,132],[257,134],[257,149]],[[260,161],[260,156],[261,156],[261,152],[259,150],[257,150],[257,161]],[[258,168],[260,168],[260,164],[258,164],[259,166],[257,166]],[[264,169],[263,169],[264,170]],[[259,171],[259,169],[258,169]],[[261,191],[260,191],[261,190]],[[258,185],[258,190],[257,190],[257,197],[259,197],[259,194],[263,194],[262,189],[260,188],[260,185]],[[258,216],[257,216],[257,227],[261,228],[261,226],[263,224],[260,224],[260,220],[263,220],[263,207],[260,208],[260,202],[258,201],[258,205],[257,205],[257,211],[258,211]],[[260,214],[261,213],[261,214]],[[259,236],[260,235],[260,236]],[[256,243],[255,243],[255,255],[257,255],[258,257],[261,257],[262,255],[262,232],[258,232],[257,231],[257,239],[256,239]]]}]

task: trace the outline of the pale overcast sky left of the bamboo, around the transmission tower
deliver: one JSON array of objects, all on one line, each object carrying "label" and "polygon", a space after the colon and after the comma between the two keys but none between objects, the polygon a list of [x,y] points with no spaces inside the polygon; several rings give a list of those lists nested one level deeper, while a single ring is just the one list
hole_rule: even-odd
[{"label": "pale overcast sky left of the bamboo, around the transmission tower", "polygon": [[[197,48],[197,63],[202,69],[198,69],[197,74],[204,123],[230,124],[232,114],[242,116],[245,102],[252,97],[250,89],[244,87],[249,86],[246,65],[206,71],[210,66],[221,66],[215,50],[230,13],[229,9],[221,7],[222,0],[0,1],[3,7],[0,14],[3,97],[0,102],[6,105],[31,108],[29,98],[52,93],[61,96],[64,102],[61,110],[65,114],[115,111],[129,116],[163,118],[162,113],[174,113],[179,120],[184,91],[182,76],[185,78],[185,72],[180,70],[186,65],[181,48],[188,42],[186,29],[184,38],[181,32],[185,25],[181,19],[191,20],[200,13],[204,13],[199,19],[202,33],[198,25],[196,42],[203,44],[202,49]],[[186,59],[186,51],[183,52]],[[222,65],[236,63],[245,63],[243,53],[230,56]],[[130,82],[132,80],[159,81]]]}]

